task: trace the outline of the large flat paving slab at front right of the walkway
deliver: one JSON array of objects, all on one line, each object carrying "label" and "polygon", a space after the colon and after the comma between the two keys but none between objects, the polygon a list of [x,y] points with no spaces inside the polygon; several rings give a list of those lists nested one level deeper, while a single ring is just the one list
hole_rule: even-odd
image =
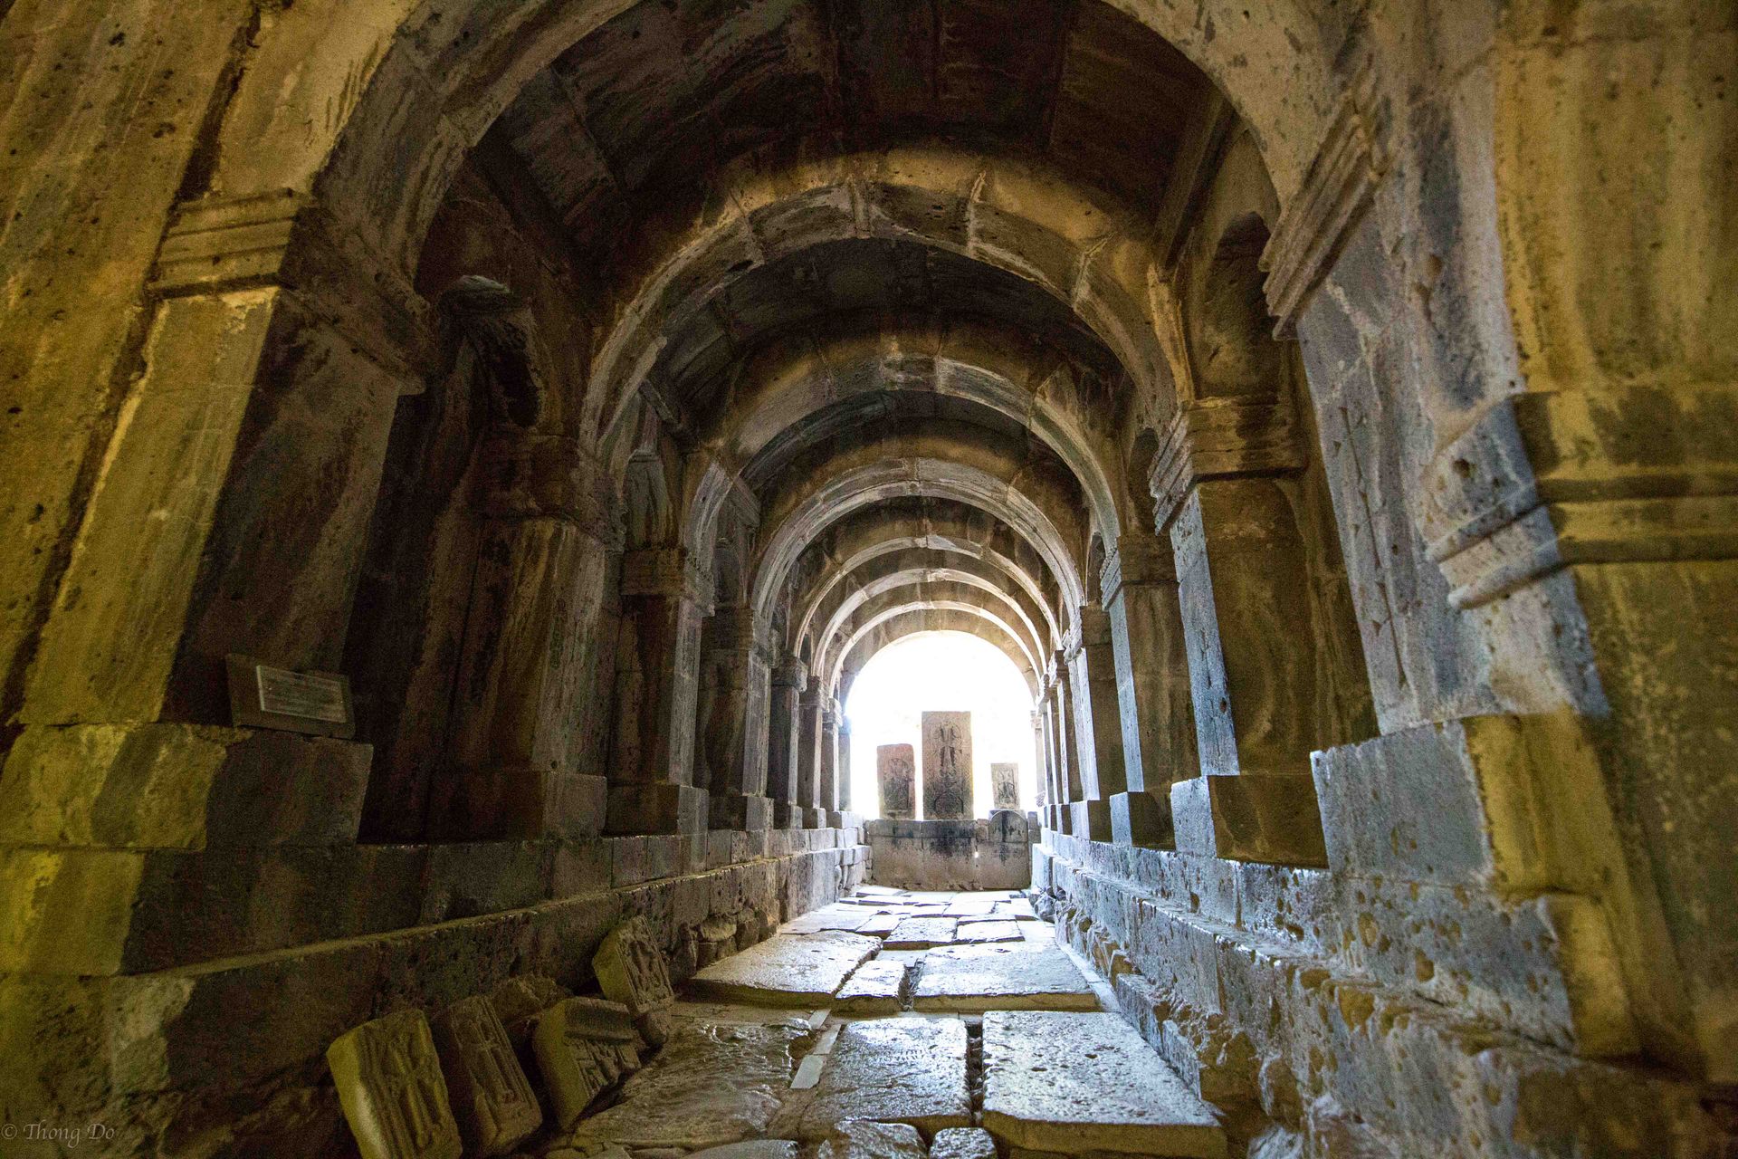
[{"label": "large flat paving slab at front right of the walkway", "polygon": [[984,1126],[1031,1150],[1225,1156],[1213,1110],[1105,1013],[985,1013]]}]

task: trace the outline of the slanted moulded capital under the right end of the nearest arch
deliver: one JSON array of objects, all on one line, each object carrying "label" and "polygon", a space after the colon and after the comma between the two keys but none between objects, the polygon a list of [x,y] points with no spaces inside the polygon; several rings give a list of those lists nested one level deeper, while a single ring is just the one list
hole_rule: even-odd
[{"label": "slanted moulded capital under the right end of the nearest arch", "polygon": [[1267,309],[1277,320],[1276,337],[1286,337],[1297,328],[1304,301],[1328,275],[1389,169],[1373,109],[1375,82],[1366,66],[1340,96],[1316,160],[1279,214],[1262,254]]}]

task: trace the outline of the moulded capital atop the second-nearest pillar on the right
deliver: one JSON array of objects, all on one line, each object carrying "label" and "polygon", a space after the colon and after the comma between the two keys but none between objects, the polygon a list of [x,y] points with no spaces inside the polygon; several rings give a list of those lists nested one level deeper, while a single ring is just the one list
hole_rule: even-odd
[{"label": "moulded capital atop the second-nearest pillar on the right", "polygon": [[1203,480],[1302,471],[1291,405],[1277,394],[1210,398],[1177,412],[1152,457],[1154,530],[1163,530]]}]

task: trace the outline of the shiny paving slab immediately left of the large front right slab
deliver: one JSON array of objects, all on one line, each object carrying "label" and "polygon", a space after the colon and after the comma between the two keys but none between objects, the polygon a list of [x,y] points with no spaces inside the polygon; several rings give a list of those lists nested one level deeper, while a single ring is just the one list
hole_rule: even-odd
[{"label": "shiny paving slab immediately left of the large front right slab", "polygon": [[848,1119],[923,1131],[972,1124],[966,1027],[958,1018],[872,1018],[846,1023],[820,1081],[793,1095],[779,1135],[827,1138]]}]

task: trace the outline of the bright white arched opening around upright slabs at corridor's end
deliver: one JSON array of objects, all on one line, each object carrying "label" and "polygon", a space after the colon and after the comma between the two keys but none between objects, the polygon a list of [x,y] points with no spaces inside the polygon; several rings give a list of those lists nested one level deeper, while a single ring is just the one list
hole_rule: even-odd
[{"label": "bright white arched opening around upright slabs at corridor's end", "polygon": [[1020,766],[1020,808],[1038,808],[1032,693],[994,645],[966,632],[919,632],[888,645],[864,666],[845,702],[852,721],[852,811],[881,815],[876,747],[909,744],[919,766],[925,712],[972,714],[972,815],[989,817],[989,766]]}]

